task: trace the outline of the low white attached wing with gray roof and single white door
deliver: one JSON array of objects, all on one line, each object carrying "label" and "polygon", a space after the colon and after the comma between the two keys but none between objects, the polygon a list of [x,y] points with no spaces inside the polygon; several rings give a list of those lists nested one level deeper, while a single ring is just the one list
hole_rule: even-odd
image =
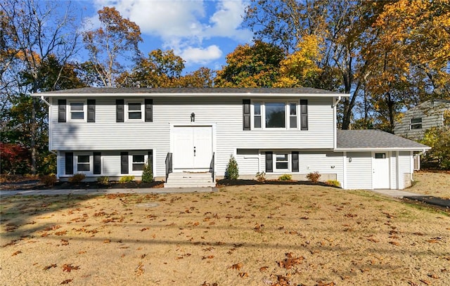
[{"label": "low white attached wing with gray roof and single white door", "polygon": [[379,130],[339,130],[345,189],[403,189],[413,180],[413,152],[430,147]]}]

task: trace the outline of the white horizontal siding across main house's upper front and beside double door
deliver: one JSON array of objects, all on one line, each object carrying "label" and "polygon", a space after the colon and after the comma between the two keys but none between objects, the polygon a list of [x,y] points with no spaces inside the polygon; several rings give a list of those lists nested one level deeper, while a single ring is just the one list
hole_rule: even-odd
[{"label": "white horizontal siding across main house's upper front and beside double door", "polygon": [[[150,95],[149,95],[150,96]],[[120,98],[120,97],[117,97]],[[52,98],[53,150],[155,150],[155,176],[165,176],[165,158],[170,152],[170,125],[214,124],[216,174],[223,176],[236,149],[298,150],[333,148],[332,98],[308,99],[309,130],[252,129],[243,131],[242,98],[153,98],[153,122],[116,122],[115,100],[96,98],[96,122],[58,123],[58,98]],[[283,100],[292,102],[292,100]],[[127,100],[125,101],[125,104]],[[127,116],[127,115],[126,115]],[[105,160],[108,162],[108,159]],[[261,162],[260,162],[261,163]],[[105,163],[104,163],[105,164]],[[109,166],[109,165],[108,165]],[[120,169],[120,166],[117,168]],[[130,169],[131,170],[131,169]],[[120,173],[120,172],[119,172]],[[256,173],[256,172],[255,172]]]}]

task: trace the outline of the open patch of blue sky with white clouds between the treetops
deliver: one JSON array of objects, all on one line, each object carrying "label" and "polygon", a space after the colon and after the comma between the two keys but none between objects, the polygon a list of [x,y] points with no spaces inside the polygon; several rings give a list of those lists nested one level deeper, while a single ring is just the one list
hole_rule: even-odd
[{"label": "open patch of blue sky with white clouds between the treetops", "polygon": [[98,10],[115,7],[141,27],[144,55],[156,48],[173,49],[186,61],[184,72],[191,72],[198,67],[221,69],[228,53],[252,41],[252,32],[241,26],[247,4],[243,0],[78,0],[72,8],[83,15],[89,29],[98,27]]}]

